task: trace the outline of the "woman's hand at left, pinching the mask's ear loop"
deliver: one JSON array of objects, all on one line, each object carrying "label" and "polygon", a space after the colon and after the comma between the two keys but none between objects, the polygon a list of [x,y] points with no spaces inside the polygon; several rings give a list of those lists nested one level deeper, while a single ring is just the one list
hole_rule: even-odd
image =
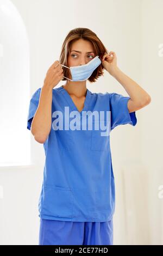
[{"label": "woman's hand at left, pinching the mask's ear loop", "polygon": [[47,71],[47,74],[44,80],[44,86],[53,89],[61,81],[63,76],[64,76],[64,72],[63,72],[62,66],[59,64],[58,60],[55,60],[55,62]]}]

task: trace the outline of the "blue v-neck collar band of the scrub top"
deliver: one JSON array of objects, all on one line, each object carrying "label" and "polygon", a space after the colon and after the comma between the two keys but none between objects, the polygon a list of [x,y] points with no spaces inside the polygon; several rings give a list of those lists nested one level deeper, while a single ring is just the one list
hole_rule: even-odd
[{"label": "blue v-neck collar band of the scrub top", "polygon": [[85,101],[84,101],[84,107],[82,109],[82,111],[79,112],[78,108],[76,107],[76,105],[74,104],[70,94],[68,94],[67,90],[65,90],[64,87],[59,87],[58,88],[60,90],[60,92],[64,95],[68,105],[70,106],[72,111],[77,111],[80,114],[80,117],[82,116],[82,112],[83,111],[88,111],[89,110],[89,105],[90,105],[90,99],[91,99],[91,92],[89,89],[87,89],[86,92],[86,96],[85,96]]}]

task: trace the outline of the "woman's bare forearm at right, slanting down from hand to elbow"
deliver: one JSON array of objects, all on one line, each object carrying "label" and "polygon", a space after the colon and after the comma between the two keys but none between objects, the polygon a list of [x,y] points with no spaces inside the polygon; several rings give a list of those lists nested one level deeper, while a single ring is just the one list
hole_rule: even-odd
[{"label": "woman's bare forearm at right, slanting down from hand to elbow", "polygon": [[119,68],[115,69],[112,76],[121,83],[130,96],[130,99],[138,106],[145,105],[147,102],[151,101],[151,96],[144,89],[142,89],[139,84],[125,75]]}]

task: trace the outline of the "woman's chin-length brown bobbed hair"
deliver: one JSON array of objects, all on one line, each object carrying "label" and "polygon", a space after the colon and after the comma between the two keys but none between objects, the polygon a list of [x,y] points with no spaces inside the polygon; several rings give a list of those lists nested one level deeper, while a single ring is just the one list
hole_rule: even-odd
[{"label": "woman's chin-length brown bobbed hair", "polygon": [[[72,29],[66,36],[62,47],[61,47],[61,54],[59,62],[62,65],[67,66],[67,56],[70,54],[71,45],[74,41],[79,40],[80,38],[90,41],[93,45],[93,49],[95,52],[95,56],[99,56],[99,58],[102,60],[102,56],[106,53],[108,53],[108,50],[103,45],[102,41],[98,38],[98,36],[92,32],[89,28],[74,28]],[[62,66],[62,69],[64,70],[64,76],[69,78],[69,69]],[[92,75],[88,78],[88,80],[92,82],[96,82],[97,78],[100,76],[103,76],[104,67],[99,65],[92,73]],[[66,78],[63,77],[62,81],[66,80]]]}]

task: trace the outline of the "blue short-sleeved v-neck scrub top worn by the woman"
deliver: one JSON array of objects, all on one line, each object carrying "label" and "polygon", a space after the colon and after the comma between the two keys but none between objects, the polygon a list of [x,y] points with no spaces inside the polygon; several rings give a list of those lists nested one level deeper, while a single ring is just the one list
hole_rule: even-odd
[{"label": "blue short-sleeved v-neck scrub top worn by the woman", "polygon": [[[39,105],[41,88],[32,95],[27,129]],[[110,111],[110,130],[118,125],[137,123],[135,112],[129,113],[129,96],[117,93],[92,93],[87,89],[83,111]],[[52,125],[54,111],[65,113],[65,107],[82,112],[62,86],[53,89]],[[87,118],[87,117],[85,117]],[[64,119],[64,118],[63,118]],[[94,120],[94,119],[93,119]],[[96,120],[93,121],[96,123]],[[82,123],[82,122],[81,122]],[[105,222],[115,211],[115,181],[112,170],[110,134],[101,130],[54,130],[43,143],[45,165],[39,198],[39,217],[47,220]],[[63,126],[64,127],[64,126]],[[82,127],[82,126],[81,126]]]}]

